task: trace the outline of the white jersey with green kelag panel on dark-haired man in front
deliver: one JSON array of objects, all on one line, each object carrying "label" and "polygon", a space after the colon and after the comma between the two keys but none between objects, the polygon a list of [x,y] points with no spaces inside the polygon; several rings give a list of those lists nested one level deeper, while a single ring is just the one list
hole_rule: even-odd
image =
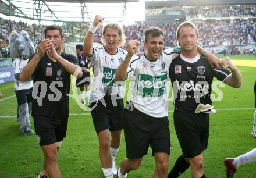
[{"label": "white jersey with green kelag panel on dark-haired man in front", "polygon": [[138,111],[155,118],[168,116],[169,67],[179,54],[180,51],[169,48],[154,62],[145,55],[133,56],[127,77],[133,92],[130,100]]}]

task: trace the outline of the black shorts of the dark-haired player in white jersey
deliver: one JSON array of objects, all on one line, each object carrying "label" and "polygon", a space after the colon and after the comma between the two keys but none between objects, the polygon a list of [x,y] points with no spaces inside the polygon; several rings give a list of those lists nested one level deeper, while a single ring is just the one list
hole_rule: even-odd
[{"label": "black shorts of the dark-haired player in white jersey", "polygon": [[170,129],[167,117],[154,118],[138,111],[123,112],[123,130],[126,142],[126,157],[142,158],[149,146],[152,155],[157,152],[170,154]]}]

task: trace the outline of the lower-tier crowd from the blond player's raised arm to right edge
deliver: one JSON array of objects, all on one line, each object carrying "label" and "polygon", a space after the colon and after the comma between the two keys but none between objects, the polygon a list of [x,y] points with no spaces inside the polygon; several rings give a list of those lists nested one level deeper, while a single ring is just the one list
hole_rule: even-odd
[{"label": "lower-tier crowd from the blond player's raised arm to right edge", "polygon": [[[181,22],[133,24],[123,27],[126,40],[137,39],[143,41],[144,31],[150,26],[158,26],[165,32],[166,47],[175,47],[176,29]],[[223,44],[255,44],[256,20],[206,20],[194,22],[200,31],[199,42],[203,45]],[[95,42],[100,42],[101,31],[97,31]]]}]

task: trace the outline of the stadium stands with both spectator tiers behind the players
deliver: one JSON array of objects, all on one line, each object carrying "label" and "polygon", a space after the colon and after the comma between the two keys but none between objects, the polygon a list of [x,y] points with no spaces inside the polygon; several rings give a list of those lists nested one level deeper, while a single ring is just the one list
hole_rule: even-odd
[{"label": "stadium stands with both spectator tiers behind the players", "polygon": [[[145,2],[145,22],[137,22],[129,26],[124,26],[123,31],[126,40],[138,39],[143,41],[144,31],[148,26],[159,26],[165,32],[165,46],[175,47],[176,29],[184,20],[192,20],[200,30],[199,41],[202,45],[244,45],[256,44],[256,3],[239,5],[236,2],[239,0],[230,0],[230,5],[207,3],[205,5],[195,5],[190,1],[190,5],[184,5],[183,0],[179,3],[172,4],[170,1]],[[250,0],[248,0],[250,2]],[[2,9],[6,9],[2,6]],[[170,19],[168,19],[171,17]],[[181,17],[179,19],[173,19]],[[151,19],[151,20],[150,20]],[[168,19],[166,21],[166,19]],[[9,56],[9,34],[10,29],[20,32],[21,30],[28,31],[30,38],[35,42],[40,42],[43,38],[42,25],[29,25],[24,22],[12,21],[12,27],[9,21],[1,19],[0,26],[0,58]],[[73,24],[64,23],[63,27],[66,30],[67,42],[82,42],[83,35],[87,31],[86,24],[74,24],[77,29],[83,29],[83,33],[72,35]],[[75,28],[74,28],[75,29]],[[94,35],[94,41],[101,43],[102,29],[97,29]],[[141,47],[141,50],[143,48]],[[233,54],[236,54],[233,52]]]}]

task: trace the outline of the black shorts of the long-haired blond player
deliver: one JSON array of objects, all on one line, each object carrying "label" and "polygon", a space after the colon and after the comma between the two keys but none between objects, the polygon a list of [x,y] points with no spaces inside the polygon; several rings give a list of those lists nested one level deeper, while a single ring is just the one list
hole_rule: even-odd
[{"label": "black shorts of the long-haired blond player", "polygon": [[90,108],[91,116],[93,117],[93,124],[96,133],[109,129],[109,131],[116,131],[123,129],[122,118],[123,118],[123,99],[116,100],[116,106],[113,106],[111,96],[106,95],[104,97],[106,107],[101,101],[92,102]]}]

